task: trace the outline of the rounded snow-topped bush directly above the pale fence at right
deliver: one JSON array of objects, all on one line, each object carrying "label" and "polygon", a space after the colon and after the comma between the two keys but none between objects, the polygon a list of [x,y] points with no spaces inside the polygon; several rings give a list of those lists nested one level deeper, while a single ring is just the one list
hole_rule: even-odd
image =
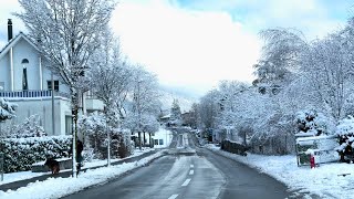
[{"label": "rounded snow-topped bush directly above the pale fence at right", "polygon": [[296,113],[296,134],[320,136],[331,134],[331,123],[322,113],[314,109],[305,109]]}]

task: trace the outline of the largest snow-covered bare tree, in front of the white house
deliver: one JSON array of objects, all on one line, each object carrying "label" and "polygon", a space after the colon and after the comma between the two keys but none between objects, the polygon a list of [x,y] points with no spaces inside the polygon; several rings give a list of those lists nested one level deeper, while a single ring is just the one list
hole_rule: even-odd
[{"label": "largest snow-covered bare tree, in front of the white house", "polygon": [[70,87],[73,113],[73,176],[76,176],[77,112],[87,90],[88,60],[101,45],[115,7],[113,0],[19,0],[17,13],[50,67]]}]

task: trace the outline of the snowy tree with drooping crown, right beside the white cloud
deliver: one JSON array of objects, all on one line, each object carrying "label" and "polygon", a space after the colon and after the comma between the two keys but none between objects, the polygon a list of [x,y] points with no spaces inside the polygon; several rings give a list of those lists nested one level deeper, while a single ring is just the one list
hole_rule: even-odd
[{"label": "snowy tree with drooping crown, right beside the white cloud", "polygon": [[253,84],[261,93],[277,94],[292,80],[308,44],[303,34],[294,29],[267,29],[260,32],[260,36],[264,45],[261,60],[253,65],[257,75]]}]

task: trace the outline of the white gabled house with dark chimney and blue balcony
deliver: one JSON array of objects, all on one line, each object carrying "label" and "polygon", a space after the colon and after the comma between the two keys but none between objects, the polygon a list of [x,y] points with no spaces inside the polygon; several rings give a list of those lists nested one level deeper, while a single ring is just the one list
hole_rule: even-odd
[{"label": "white gabled house with dark chimney and blue balcony", "polygon": [[[69,87],[52,75],[49,63],[30,38],[22,32],[12,36],[10,19],[8,39],[8,44],[0,51],[0,97],[19,106],[17,117],[6,122],[6,125],[22,123],[24,118],[35,114],[40,116],[41,125],[49,135],[71,134]],[[83,97],[84,113],[101,109],[101,101],[91,96]]]}]

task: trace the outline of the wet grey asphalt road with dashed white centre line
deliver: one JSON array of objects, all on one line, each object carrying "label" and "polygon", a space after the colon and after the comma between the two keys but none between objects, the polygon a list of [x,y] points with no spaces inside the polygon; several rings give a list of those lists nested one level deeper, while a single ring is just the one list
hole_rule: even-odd
[{"label": "wet grey asphalt road with dashed white centre line", "polygon": [[168,155],[67,199],[283,199],[288,187],[235,160],[196,146],[190,134],[175,134]]}]

